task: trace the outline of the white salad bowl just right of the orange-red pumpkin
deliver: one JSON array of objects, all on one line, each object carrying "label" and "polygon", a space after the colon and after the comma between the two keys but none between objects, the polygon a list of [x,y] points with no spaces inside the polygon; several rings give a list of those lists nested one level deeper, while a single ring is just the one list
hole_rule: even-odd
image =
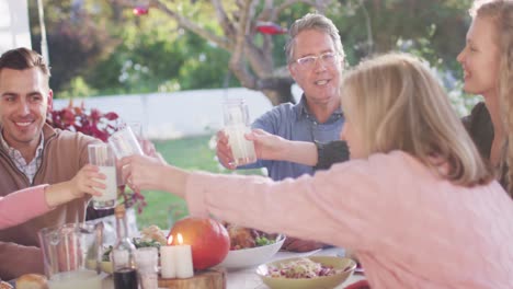
[{"label": "white salad bowl just right of the orange-red pumpkin", "polygon": [[241,250],[230,250],[226,258],[218,265],[227,269],[240,269],[264,264],[271,259],[285,242],[285,236],[280,235],[274,244]]}]

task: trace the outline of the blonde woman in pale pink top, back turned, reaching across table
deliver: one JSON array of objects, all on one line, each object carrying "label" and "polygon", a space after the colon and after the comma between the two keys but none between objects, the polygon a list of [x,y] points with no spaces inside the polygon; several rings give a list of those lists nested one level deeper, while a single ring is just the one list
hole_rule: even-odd
[{"label": "blonde woman in pale pink top, back turned, reaching across table", "polygon": [[513,203],[429,68],[367,60],[341,95],[353,160],[315,176],[190,173],[147,157],[123,159],[125,174],[184,197],[193,215],[352,247],[372,288],[513,288]]}]

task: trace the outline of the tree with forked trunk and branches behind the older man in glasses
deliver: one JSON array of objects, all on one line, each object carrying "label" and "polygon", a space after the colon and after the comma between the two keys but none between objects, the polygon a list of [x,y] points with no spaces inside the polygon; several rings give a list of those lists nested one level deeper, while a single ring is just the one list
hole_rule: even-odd
[{"label": "tree with forked trunk and branches behind the older man in glasses", "polygon": [[[259,34],[258,25],[278,22],[282,13],[295,4],[307,4],[323,12],[332,1],[210,0],[208,11],[202,11],[198,2],[150,0],[150,5],[163,11],[183,28],[229,51],[228,67],[242,86],[262,91],[273,105],[294,102],[290,90],[294,81],[288,73],[283,72],[285,69],[276,69],[273,59],[273,35]],[[209,23],[195,21],[202,16],[202,12],[208,13],[203,18],[209,18]],[[214,22],[212,15],[216,16]]]}]

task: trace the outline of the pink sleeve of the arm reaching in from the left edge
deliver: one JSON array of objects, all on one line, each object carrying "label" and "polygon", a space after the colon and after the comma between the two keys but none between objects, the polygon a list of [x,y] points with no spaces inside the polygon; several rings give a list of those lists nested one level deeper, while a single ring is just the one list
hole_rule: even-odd
[{"label": "pink sleeve of the arm reaching in from the left edge", "polygon": [[27,187],[0,197],[0,229],[22,223],[52,210],[45,199],[46,186]]}]

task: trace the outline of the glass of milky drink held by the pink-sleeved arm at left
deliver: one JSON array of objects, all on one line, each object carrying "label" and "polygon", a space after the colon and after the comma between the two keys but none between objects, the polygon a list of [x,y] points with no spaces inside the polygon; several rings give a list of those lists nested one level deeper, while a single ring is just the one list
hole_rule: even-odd
[{"label": "glass of milky drink held by the pink-sleeved arm at left", "polygon": [[100,172],[106,176],[98,180],[106,185],[105,189],[98,189],[102,196],[93,196],[94,209],[111,209],[116,206],[117,199],[117,175],[115,158],[112,149],[106,143],[92,143],[88,146],[89,163],[96,165]]}]

